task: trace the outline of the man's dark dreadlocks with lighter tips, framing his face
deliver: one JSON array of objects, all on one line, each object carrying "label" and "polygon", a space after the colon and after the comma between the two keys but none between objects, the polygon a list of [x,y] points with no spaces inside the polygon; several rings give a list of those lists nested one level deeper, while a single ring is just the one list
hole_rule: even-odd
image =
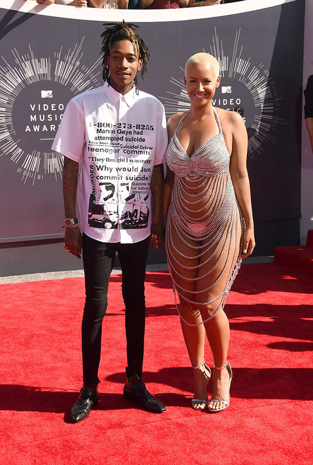
[{"label": "man's dark dreadlocks with lighter tips, framing his face", "polygon": [[[109,82],[109,69],[106,67],[107,58],[110,55],[112,46],[120,40],[129,40],[133,44],[135,53],[138,53],[139,58],[143,61],[141,77],[144,78],[144,74],[147,71],[147,62],[150,58],[150,55],[147,45],[135,32],[135,29],[137,29],[139,26],[134,23],[126,23],[124,19],[121,23],[104,23],[103,26],[106,27],[105,31],[101,34],[101,37],[103,38],[101,49],[101,53],[103,53],[103,79]],[[135,77],[134,81],[136,90],[138,90],[137,76]]]}]

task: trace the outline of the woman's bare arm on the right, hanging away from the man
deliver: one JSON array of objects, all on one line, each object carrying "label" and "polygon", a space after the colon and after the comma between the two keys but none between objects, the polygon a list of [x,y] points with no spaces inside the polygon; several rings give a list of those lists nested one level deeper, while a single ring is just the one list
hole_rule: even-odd
[{"label": "woman's bare arm on the right, hanging away from the man", "polygon": [[246,167],[248,138],[247,131],[239,113],[230,111],[228,113],[228,120],[231,125],[233,135],[230,173],[235,194],[246,225],[246,230],[243,235],[242,257],[244,258],[251,255],[255,246],[250,183]]}]

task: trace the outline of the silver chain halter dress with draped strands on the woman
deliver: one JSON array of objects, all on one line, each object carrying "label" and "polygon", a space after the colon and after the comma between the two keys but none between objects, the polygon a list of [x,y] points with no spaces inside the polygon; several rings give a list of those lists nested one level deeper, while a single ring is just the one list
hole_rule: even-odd
[{"label": "silver chain halter dress with draped strands on the woman", "polygon": [[[191,156],[181,146],[177,131],[169,142],[166,161],[174,184],[166,227],[166,255],[180,317],[189,325],[202,324],[224,308],[241,263],[244,219],[230,176],[221,123],[213,108],[219,133]],[[200,309],[200,323],[187,322],[176,300]]]}]

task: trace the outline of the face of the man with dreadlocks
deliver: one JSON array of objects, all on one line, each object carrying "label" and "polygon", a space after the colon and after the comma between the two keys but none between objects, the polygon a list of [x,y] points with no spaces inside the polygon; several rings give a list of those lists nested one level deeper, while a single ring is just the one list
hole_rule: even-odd
[{"label": "face of the man with dreadlocks", "polygon": [[115,42],[106,63],[110,70],[112,87],[126,87],[130,84],[135,79],[138,69],[142,67],[142,63],[132,42],[129,40]]}]

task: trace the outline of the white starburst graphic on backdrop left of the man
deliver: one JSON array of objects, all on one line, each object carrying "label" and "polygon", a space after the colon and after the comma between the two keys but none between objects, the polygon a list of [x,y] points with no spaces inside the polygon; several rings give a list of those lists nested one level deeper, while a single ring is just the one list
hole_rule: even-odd
[{"label": "white starburst graphic on backdrop left of the man", "polygon": [[[30,150],[27,147],[25,148],[22,140],[23,135],[21,134],[25,131],[16,131],[16,124],[14,124],[14,111],[17,112],[17,110],[14,110],[14,104],[16,105],[16,101],[18,101],[21,102],[20,105],[23,105],[23,101],[28,98],[31,86],[36,85],[36,83],[39,86],[39,90],[36,89],[37,93],[40,92],[40,86],[49,89],[41,90],[41,92],[46,92],[46,94],[41,93],[41,97],[52,97],[54,87],[58,88],[58,90],[61,89],[64,98],[67,100],[65,105],[76,94],[100,85],[97,78],[100,72],[97,71],[97,68],[102,58],[99,58],[91,67],[87,68],[82,63],[83,40],[84,38],[79,44],[75,44],[73,50],[69,49],[68,52],[64,52],[61,46],[53,57],[35,57],[30,45],[28,46],[28,53],[24,55],[20,55],[15,48],[11,50],[13,63],[10,63],[9,59],[6,60],[3,56],[1,57],[0,157],[6,155],[16,164],[16,170],[21,175],[24,183],[31,179],[34,185],[35,181],[43,180],[46,175],[53,175],[56,180],[61,178],[63,156],[49,149],[47,150],[49,146],[51,147],[54,137],[41,137],[39,139],[40,136],[35,134],[33,145],[35,146],[37,141],[37,147]],[[43,101],[50,102],[52,99],[47,98]],[[55,115],[51,114],[49,116],[52,119]],[[34,120],[31,119],[31,121]],[[47,147],[41,151],[38,150],[38,145],[46,145]]]}]

